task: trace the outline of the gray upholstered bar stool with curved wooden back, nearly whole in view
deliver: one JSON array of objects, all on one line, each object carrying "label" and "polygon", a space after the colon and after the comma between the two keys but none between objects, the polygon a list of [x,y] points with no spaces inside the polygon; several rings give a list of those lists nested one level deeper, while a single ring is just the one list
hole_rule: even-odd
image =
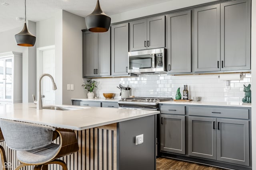
[{"label": "gray upholstered bar stool with curved wooden back, nearly whole in view", "polygon": [[[77,152],[78,142],[74,131],[54,127],[0,119],[0,127],[6,145],[16,150],[17,159],[21,162],[15,170],[34,165],[34,170],[47,170],[48,164],[59,164],[68,170],[60,158]],[[57,137],[60,144],[52,143]]]}]

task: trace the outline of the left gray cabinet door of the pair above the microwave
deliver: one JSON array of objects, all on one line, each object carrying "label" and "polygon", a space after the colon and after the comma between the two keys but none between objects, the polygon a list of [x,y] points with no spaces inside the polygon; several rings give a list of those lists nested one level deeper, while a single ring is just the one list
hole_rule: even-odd
[{"label": "left gray cabinet door of the pair above the microwave", "polygon": [[130,49],[147,49],[147,20],[130,22]]}]

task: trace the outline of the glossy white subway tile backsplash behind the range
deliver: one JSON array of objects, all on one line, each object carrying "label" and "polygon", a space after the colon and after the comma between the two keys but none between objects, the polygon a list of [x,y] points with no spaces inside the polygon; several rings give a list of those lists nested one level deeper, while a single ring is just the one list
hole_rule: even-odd
[{"label": "glossy white subway tile backsplash behind the range", "polygon": [[244,80],[230,81],[230,89],[226,89],[226,81],[219,80],[218,74],[177,75],[166,74],[140,75],[138,77],[122,78],[94,78],[100,82],[95,90],[96,96],[104,98],[103,93],[115,93],[114,98],[119,96],[120,90],[116,88],[119,84],[131,88],[131,96],[147,97],[172,97],[175,98],[176,91],[183,85],[188,85],[189,98],[201,96],[202,101],[209,102],[240,102],[244,96],[244,84],[251,83],[251,75],[246,74]]}]

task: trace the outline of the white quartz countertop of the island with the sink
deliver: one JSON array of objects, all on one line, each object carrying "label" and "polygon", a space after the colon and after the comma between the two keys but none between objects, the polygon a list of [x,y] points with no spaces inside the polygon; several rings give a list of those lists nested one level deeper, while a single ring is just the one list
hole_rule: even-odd
[{"label": "white quartz countertop of the island with the sink", "polygon": [[[68,105],[62,105],[62,107],[65,106]],[[36,105],[33,103],[1,104],[0,118],[80,131],[160,113],[159,111],[137,109],[80,106],[68,107],[81,109],[65,111],[50,109],[37,110]]]}]

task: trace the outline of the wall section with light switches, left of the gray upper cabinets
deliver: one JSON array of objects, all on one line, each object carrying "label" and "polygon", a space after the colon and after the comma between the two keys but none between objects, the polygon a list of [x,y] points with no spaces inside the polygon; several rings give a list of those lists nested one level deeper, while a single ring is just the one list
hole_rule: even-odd
[{"label": "wall section with light switches, left of the gray upper cabinets", "polygon": [[[72,104],[71,98],[84,96],[82,88],[82,29],[86,28],[84,17],[63,11],[62,49],[62,104]],[[74,84],[74,90],[67,90]]]}]

